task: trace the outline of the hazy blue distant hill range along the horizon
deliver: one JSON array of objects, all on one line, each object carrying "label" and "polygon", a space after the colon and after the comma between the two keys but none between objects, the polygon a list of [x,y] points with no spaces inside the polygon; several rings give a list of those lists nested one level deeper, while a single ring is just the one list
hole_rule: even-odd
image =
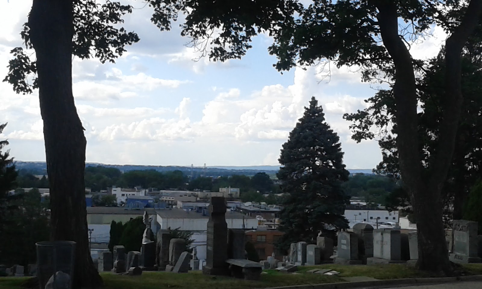
[{"label": "hazy blue distant hill range along the horizon", "polygon": [[[47,174],[47,165],[45,162],[31,162],[31,161],[16,161],[15,166],[18,170],[25,170],[28,173],[41,175]],[[184,167],[184,166],[144,166],[144,165],[109,165],[101,163],[86,163],[86,167],[90,166],[104,166],[119,169],[122,172],[134,170],[156,170],[156,171],[175,171],[179,170],[187,175],[192,174],[193,177],[200,175],[205,176],[228,176],[233,174],[254,175],[257,172],[266,172],[267,174],[276,174],[280,166],[209,166],[206,169],[202,167]],[[372,174],[371,169],[366,170],[351,170],[351,174],[365,173]]]}]

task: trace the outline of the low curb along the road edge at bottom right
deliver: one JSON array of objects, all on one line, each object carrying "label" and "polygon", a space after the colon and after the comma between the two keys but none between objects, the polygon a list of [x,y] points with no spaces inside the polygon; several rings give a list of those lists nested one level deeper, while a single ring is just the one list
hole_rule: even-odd
[{"label": "low curb along the road edge at bottom right", "polygon": [[440,284],[453,283],[458,281],[482,281],[482,275],[460,276],[460,277],[435,277],[435,278],[406,278],[406,279],[389,279],[374,280],[360,282],[339,282],[324,283],[312,285],[295,285],[282,287],[269,287],[266,289],[348,289],[348,288],[374,288],[382,286],[400,286],[400,285],[424,285],[424,284]]}]

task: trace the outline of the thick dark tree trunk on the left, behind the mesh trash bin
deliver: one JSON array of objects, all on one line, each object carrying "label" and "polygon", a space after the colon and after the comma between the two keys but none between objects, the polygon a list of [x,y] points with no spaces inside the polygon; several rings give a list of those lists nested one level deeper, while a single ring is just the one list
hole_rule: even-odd
[{"label": "thick dark tree trunk on the left, behind the mesh trash bin", "polygon": [[51,239],[77,242],[74,288],[95,288],[102,285],[102,278],[94,268],[88,243],[86,139],[72,94],[72,0],[34,0],[28,26],[37,56]]}]

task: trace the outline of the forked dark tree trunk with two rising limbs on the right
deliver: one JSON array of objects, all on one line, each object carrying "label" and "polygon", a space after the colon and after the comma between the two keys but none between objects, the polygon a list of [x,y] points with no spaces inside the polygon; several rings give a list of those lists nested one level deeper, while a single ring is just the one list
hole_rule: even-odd
[{"label": "forked dark tree trunk with two rising limbs on the right", "polygon": [[[422,270],[451,274],[445,232],[442,223],[441,191],[447,177],[455,147],[455,135],[461,113],[461,52],[478,24],[482,0],[471,0],[461,25],[446,41],[446,91],[444,114],[437,150],[431,156],[429,171],[419,158],[417,139],[417,98],[412,56],[398,31],[398,7],[377,0],[378,24],[383,44],[395,65],[393,94],[396,104],[397,149],[403,182],[408,188],[417,220],[418,262]],[[422,174],[424,174],[422,176]],[[425,175],[427,174],[427,175]]]}]

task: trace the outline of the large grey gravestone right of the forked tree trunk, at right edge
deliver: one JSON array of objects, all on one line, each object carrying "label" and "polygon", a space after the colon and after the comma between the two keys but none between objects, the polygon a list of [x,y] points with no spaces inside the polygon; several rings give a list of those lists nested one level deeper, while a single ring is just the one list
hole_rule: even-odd
[{"label": "large grey gravestone right of the forked tree trunk, at right edge", "polygon": [[454,220],[454,252],[449,259],[455,263],[480,263],[478,256],[478,223],[466,220]]}]

